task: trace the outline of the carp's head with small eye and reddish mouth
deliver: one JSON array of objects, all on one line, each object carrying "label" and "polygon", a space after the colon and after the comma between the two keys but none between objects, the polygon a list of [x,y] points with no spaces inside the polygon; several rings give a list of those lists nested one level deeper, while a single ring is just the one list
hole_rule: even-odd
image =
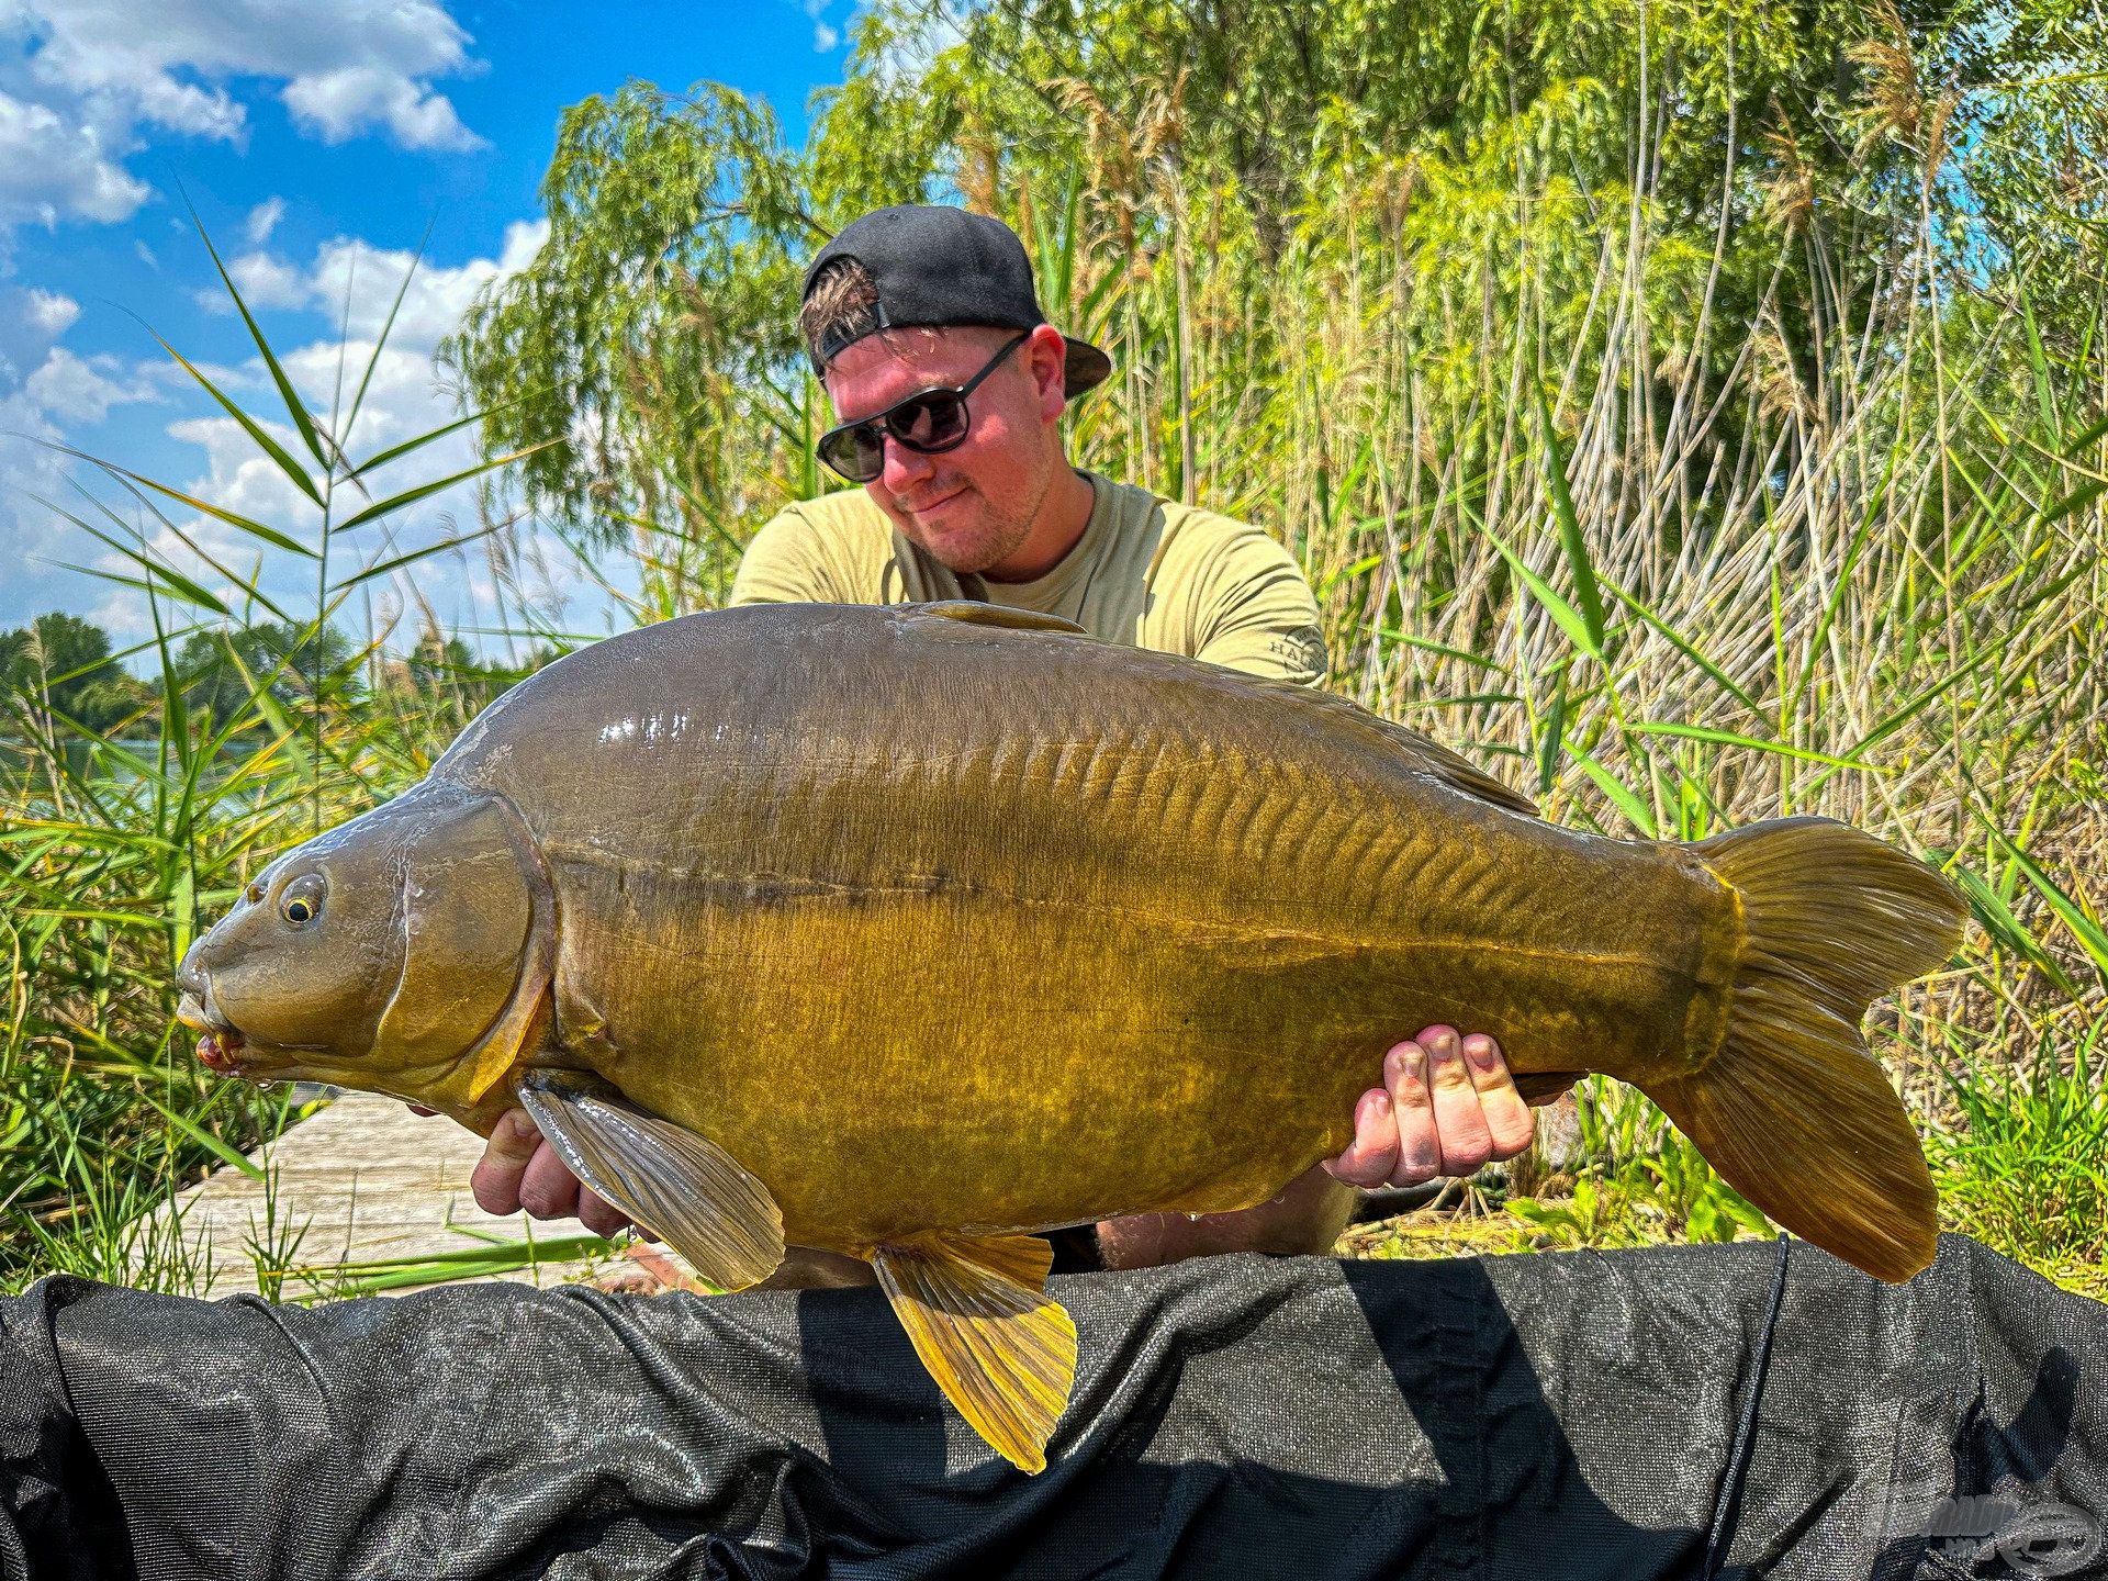
[{"label": "carp's head with small eye and reddish mouth", "polygon": [[177,968],[177,1018],[217,1071],[457,1102],[546,982],[550,911],[512,803],[426,782],[264,868]]}]

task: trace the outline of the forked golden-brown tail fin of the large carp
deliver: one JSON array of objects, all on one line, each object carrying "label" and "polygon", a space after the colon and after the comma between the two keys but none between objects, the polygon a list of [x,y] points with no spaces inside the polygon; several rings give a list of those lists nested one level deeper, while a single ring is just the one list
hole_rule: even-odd
[{"label": "forked golden-brown tail fin of the large carp", "polygon": [[1937,1252],[1937,1195],[1859,1022],[1954,953],[1965,906],[1922,862],[1828,818],[1693,850],[1739,892],[1743,951],[1720,1050],[1644,1090],[1777,1223],[1899,1284]]}]

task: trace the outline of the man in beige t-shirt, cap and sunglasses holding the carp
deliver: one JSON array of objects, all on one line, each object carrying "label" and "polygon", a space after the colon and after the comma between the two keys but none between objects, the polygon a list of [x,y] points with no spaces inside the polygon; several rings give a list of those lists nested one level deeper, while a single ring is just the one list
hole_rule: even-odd
[{"label": "man in beige t-shirt, cap and sunglasses holding the carp", "polygon": [[[1102,641],[1324,679],[1318,601],[1265,531],[1069,466],[1060,415],[1111,363],[1046,323],[1008,226],[917,204],[864,215],[807,270],[799,327],[843,419],[820,457],[864,487],[769,521],[731,603],[978,599],[1062,616]],[[1530,1143],[1530,1111],[1490,1037],[1429,1027],[1389,1050],[1381,1081],[1355,1105],[1347,1151],[1271,1204],[1107,1221],[1056,1237],[1056,1267],[1324,1252],[1353,1212],[1351,1187],[1471,1174]],[[601,1233],[626,1223],[521,1111],[491,1134],[474,1191],[489,1212],[575,1212]]]}]

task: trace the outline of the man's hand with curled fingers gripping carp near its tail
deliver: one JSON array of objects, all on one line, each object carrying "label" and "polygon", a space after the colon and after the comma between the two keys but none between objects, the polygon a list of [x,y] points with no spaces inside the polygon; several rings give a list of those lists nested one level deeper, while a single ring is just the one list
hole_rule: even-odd
[{"label": "man's hand with curled fingers gripping carp near its tail", "polygon": [[1501,1046],[1484,1033],[1427,1027],[1383,1056],[1383,1086],[1353,1107],[1353,1143],[1324,1168],[1368,1191],[1421,1185],[1516,1157],[1535,1134],[1537,1117]]}]

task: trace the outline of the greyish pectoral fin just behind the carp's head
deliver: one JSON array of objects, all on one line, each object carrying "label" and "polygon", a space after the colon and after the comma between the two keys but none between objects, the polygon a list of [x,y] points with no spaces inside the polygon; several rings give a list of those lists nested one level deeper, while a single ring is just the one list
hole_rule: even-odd
[{"label": "greyish pectoral fin just behind the carp's head", "polygon": [[710,1138],[569,1071],[525,1075],[519,1098],[571,1174],[710,1284],[746,1290],[784,1261],[776,1197]]}]

